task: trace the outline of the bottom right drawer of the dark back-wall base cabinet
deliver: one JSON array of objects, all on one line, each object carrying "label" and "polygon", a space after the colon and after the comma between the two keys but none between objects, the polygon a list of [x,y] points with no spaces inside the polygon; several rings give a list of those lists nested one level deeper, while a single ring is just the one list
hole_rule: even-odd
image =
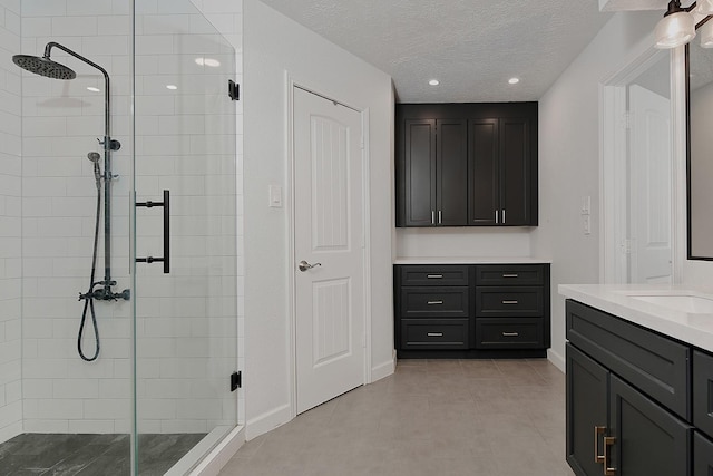
[{"label": "bottom right drawer of the dark back-wall base cabinet", "polygon": [[540,349],[543,319],[476,319],[477,349]]}]

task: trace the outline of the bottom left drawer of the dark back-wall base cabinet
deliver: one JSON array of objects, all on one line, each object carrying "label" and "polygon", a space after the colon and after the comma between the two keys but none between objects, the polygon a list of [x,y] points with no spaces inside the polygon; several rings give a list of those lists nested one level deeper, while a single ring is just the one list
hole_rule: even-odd
[{"label": "bottom left drawer of the dark back-wall base cabinet", "polygon": [[468,349],[468,319],[402,319],[401,349]]}]

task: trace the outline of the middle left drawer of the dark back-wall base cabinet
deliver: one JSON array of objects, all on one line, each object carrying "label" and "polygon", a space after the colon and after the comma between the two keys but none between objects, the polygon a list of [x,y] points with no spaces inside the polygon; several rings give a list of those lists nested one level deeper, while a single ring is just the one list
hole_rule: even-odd
[{"label": "middle left drawer of the dark back-wall base cabinet", "polygon": [[468,288],[401,288],[403,318],[467,318]]}]

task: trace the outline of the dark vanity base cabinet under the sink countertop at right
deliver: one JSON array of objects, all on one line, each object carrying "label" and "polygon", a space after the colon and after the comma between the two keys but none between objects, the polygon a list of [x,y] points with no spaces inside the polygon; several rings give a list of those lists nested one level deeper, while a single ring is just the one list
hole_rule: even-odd
[{"label": "dark vanity base cabinet under the sink countertop at right", "polygon": [[713,475],[713,356],[573,300],[566,331],[577,476]]}]

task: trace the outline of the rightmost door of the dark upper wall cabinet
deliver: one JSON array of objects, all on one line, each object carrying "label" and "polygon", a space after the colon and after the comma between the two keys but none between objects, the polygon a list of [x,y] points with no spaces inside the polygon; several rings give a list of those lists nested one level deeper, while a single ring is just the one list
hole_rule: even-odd
[{"label": "rightmost door of the dark upper wall cabinet", "polygon": [[500,119],[500,224],[531,223],[530,174],[529,119]]}]

